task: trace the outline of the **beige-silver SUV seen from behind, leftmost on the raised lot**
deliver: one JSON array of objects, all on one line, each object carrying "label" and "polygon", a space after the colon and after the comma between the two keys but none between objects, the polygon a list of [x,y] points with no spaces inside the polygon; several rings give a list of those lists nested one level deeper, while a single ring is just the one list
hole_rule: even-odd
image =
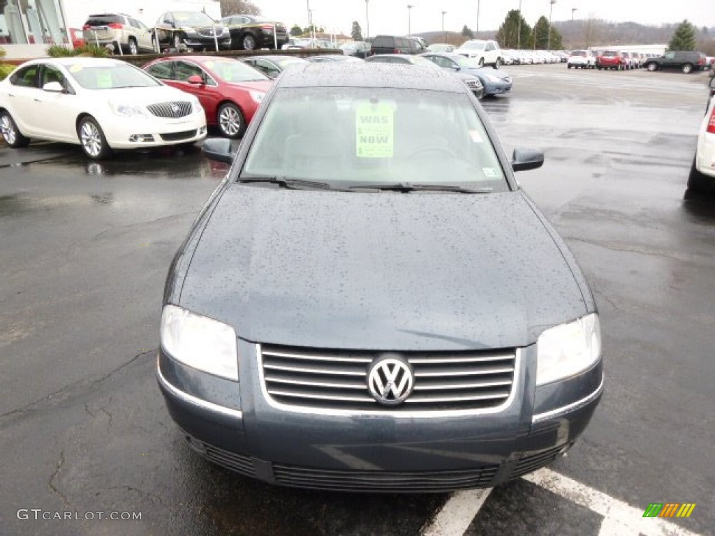
[{"label": "beige-silver SUV seen from behind, leftmost on the raised lot", "polygon": [[122,13],[89,15],[82,26],[87,44],[112,45],[117,54],[154,52],[154,36],[146,24]]}]

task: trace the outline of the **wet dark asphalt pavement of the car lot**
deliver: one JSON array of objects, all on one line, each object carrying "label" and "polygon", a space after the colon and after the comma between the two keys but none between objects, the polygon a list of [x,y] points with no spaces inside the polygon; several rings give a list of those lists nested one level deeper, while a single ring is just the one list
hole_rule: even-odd
[{"label": "wet dark asphalt pavement of the car lot", "polygon": [[[518,179],[601,312],[606,392],[551,469],[642,510],[695,502],[673,522],[711,534],[715,199],[685,186],[707,77],[506,69],[512,94],[483,106],[510,153],[546,152]],[[154,377],[161,298],[222,174],[197,150],[98,164],[79,147],[0,146],[0,533],[416,535],[448,500],[271,487],[184,444]],[[72,519],[43,519],[56,512]],[[141,519],[100,519],[112,512]],[[602,520],[519,480],[463,533],[598,535]]]}]

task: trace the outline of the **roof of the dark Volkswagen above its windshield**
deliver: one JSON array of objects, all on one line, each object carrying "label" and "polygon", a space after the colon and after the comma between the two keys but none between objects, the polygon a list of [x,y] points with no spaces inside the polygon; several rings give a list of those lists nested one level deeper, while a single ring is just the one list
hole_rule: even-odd
[{"label": "roof of the dark Volkswagen above its windshield", "polygon": [[284,71],[277,83],[281,87],[388,87],[468,92],[460,79],[442,69],[367,62],[307,62],[305,66]]}]

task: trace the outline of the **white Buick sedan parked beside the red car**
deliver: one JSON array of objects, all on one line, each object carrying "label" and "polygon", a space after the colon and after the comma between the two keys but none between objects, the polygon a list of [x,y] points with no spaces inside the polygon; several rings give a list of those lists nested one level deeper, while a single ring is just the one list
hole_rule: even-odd
[{"label": "white Buick sedan parked beside the red car", "polygon": [[112,149],[192,144],[206,137],[206,116],[195,96],[124,61],[36,59],[0,82],[0,131],[10,147],[49,139],[98,160]]}]

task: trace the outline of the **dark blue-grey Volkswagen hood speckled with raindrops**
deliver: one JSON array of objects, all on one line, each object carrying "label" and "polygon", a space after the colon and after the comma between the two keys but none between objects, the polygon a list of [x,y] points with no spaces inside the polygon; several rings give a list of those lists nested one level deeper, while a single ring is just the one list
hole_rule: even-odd
[{"label": "dark blue-grey Volkswagen hood speckled with raindrops", "polygon": [[179,304],[254,342],[523,347],[587,312],[557,242],[521,192],[235,184],[202,233]]}]

